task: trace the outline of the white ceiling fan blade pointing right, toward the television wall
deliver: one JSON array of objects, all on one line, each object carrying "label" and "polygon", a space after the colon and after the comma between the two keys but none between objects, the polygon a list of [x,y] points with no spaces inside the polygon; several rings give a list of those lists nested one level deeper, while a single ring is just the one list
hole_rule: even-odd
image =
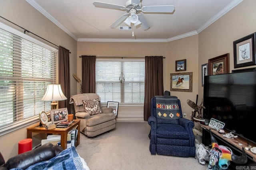
[{"label": "white ceiling fan blade pointing right, toward the television wall", "polygon": [[142,12],[168,12],[172,13],[174,11],[173,5],[158,5],[158,6],[143,6],[141,8]]}]

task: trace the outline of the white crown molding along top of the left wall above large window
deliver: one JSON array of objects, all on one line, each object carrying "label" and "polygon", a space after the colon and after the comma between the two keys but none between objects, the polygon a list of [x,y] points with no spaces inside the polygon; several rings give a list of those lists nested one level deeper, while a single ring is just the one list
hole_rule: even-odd
[{"label": "white crown molding along top of the left wall above large window", "polygon": [[70,32],[66,27],[64,27],[59,21],[57,21],[55,18],[53,18],[48,12],[46,12],[46,10],[44,10],[36,1],[34,0],[26,0],[26,2],[28,2],[28,4],[30,4],[31,6],[33,6],[34,8],[36,8],[36,10],[38,10],[39,12],[41,12],[46,18],[48,18],[50,21],[52,21],[55,25],[57,25],[58,27],[60,27],[60,29],[62,29],[64,32],[66,32],[68,35],[70,35],[72,38],[74,38],[76,41],[78,40],[78,38],[72,33]]}]

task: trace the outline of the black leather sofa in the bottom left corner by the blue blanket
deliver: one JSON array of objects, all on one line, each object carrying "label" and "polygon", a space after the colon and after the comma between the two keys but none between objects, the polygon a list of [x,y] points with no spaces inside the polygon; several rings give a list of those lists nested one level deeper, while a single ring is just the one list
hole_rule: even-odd
[{"label": "black leather sofa in the bottom left corner by the blue blanket", "polygon": [[9,170],[12,168],[26,169],[33,164],[55,157],[62,150],[63,148],[61,146],[47,143],[36,149],[13,156],[9,158],[6,163],[0,153],[0,170]]}]

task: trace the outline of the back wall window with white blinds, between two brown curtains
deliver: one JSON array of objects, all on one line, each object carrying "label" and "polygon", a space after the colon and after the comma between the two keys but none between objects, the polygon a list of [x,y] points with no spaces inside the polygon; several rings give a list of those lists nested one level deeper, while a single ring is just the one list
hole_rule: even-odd
[{"label": "back wall window with white blinds, between two brown curtains", "polygon": [[144,60],[96,60],[96,93],[102,103],[144,103],[144,86]]}]

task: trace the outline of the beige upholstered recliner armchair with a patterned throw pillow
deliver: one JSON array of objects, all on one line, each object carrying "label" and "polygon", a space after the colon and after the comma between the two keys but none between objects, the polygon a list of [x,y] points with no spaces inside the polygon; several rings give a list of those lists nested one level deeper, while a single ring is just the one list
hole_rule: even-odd
[{"label": "beige upholstered recliner armchair with a patterned throw pillow", "polygon": [[[93,104],[90,104],[91,102]],[[80,119],[80,131],[84,135],[95,137],[116,128],[116,117],[112,113],[113,108],[101,107],[100,96],[97,94],[83,93],[73,95],[70,98],[70,104],[74,104],[76,119]],[[102,113],[98,113],[93,109],[91,111],[91,108],[88,109],[91,105],[96,106],[96,109]]]}]

